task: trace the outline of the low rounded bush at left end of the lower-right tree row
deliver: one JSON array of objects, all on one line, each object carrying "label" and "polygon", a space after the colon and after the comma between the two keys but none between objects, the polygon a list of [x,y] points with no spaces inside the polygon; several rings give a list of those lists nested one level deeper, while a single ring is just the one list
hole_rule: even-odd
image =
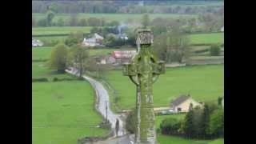
[{"label": "low rounded bush at left end of the lower-right tree row", "polygon": [[162,134],[179,134],[178,130],[181,126],[176,118],[165,118],[160,124]]}]

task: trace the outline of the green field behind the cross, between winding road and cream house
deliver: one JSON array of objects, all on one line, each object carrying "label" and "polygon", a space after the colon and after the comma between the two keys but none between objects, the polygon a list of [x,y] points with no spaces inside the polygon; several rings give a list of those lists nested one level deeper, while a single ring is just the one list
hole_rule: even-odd
[{"label": "green field behind the cross, between winding road and cream house", "polygon": [[[120,98],[118,106],[131,109],[135,106],[135,86],[121,70],[105,73],[106,81],[116,90]],[[127,89],[129,87],[129,89]],[[197,101],[217,101],[224,94],[224,66],[186,66],[168,68],[154,83],[154,106],[170,106],[170,101],[180,94],[192,95]],[[114,95],[110,94],[112,102]]]}]

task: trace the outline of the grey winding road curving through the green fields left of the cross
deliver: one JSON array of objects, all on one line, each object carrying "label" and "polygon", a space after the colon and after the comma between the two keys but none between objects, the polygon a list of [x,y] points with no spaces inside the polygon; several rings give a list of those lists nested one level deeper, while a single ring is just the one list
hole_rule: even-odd
[{"label": "grey winding road curving through the green fields left of the cross", "polygon": [[[74,68],[70,68],[70,70],[66,70],[66,72],[69,74],[74,74],[74,75],[78,76],[78,70],[76,70]],[[97,102],[96,102],[95,107],[98,110],[98,112],[100,114],[102,114],[102,116],[104,118],[106,118],[106,106],[107,106],[107,108],[108,108],[107,109],[107,119],[111,123],[111,128],[112,129],[115,128],[115,122],[116,122],[116,119],[118,118],[118,120],[119,120],[118,136],[122,136],[122,135],[126,134],[126,130],[124,128],[124,122],[122,121],[121,115],[114,114],[110,110],[110,98],[109,98],[109,94],[107,93],[107,90],[104,88],[104,86],[102,86],[102,84],[100,82],[96,81],[93,78],[89,78],[86,76],[83,76],[83,78],[85,78],[86,81],[90,82],[90,85],[94,87],[94,90],[97,95]],[[115,134],[115,136],[116,136],[116,134]]]}]

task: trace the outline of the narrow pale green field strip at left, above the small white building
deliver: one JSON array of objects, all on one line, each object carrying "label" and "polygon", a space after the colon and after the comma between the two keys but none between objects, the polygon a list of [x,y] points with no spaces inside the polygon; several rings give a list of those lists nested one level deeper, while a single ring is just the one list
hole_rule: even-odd
[{"label": "narrow pale green field strip at left, above the small white building", "polygon": [[32,35],[45,34],[70,34],[71,32],[81,31],[89,33],[91,26],[53,26],[53,27],[33,27]]}]

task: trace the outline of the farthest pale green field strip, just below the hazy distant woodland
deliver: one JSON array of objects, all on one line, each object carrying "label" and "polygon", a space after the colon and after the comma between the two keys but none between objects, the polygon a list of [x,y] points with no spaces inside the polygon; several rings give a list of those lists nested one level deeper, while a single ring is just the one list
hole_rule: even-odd
[{"label": "farthest pale green field strip, just below the hazy distant woodland", "polygon": [[[33,13],[33,17],[38,20],[46,17],[46,14]],[[106,21],[134,21],[140,22],[143,14],[78,14],[78,18],[105,18]],[[149,14],[150,19],[154,18],[197,18],[197,14]],[[63,18],[63,20],[68,20],[70,14],[56,14],[54,17],[54,22],[58,21],[58,18]]]}]

